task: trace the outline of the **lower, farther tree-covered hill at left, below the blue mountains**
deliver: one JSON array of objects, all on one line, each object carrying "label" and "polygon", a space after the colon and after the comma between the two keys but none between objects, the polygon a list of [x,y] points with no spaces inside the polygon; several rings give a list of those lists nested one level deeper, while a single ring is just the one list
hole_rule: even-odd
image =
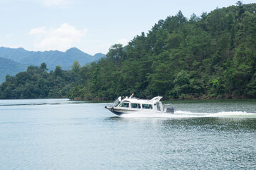
[{"label": "lower, farther tree-covered hill at left, below the blue mountains", "polygon": [[75,81],[78,81],[78,67],[74,62],[71,70],[56,66],[54,72],[46,72],[45,63],[41,67],[29,66],[26,72],[15,77],[6,76],[0,86],[0,98],[62,98],[66,97]]}]

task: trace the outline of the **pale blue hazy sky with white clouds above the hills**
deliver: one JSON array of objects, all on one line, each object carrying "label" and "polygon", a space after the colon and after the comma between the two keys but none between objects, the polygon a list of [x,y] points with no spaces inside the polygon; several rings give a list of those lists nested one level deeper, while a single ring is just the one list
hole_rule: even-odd
[{"label": "pale blue hazy sky with white clouds above the hills", "polygon": [[[190,18],[235,5],[232,0],[0,0],[0,47],[65,51],[78,47],[94,55],[115,43],[148,33],[179,10]],[[244,0],[243,4],[255,3]]]}]

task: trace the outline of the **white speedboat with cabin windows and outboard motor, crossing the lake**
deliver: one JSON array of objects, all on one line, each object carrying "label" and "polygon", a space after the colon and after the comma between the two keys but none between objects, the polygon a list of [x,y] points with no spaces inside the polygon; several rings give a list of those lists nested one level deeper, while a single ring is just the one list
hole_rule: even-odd
[{"label": "white speedboat with cabin windows and outboard motor, crossing the lake", "polygon": [[145,100],[132,96],[119,96],[114,103],[105,106],[109,111],[116,115],[129,114],[133,112],[159,112],[159,113],[174,113],[173,107],[164,108],[160,99],[162,96],[156,96],[151,100]]}]

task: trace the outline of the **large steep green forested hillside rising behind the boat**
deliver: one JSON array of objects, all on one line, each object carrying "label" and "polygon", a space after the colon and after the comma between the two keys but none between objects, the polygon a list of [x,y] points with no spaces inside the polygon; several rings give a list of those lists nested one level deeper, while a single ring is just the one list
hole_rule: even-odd
[{"label": "large steep green forested hillside rising behind the boat", "polygon": [[256,4],[181,11],[81,68],[69,98],[256,98]]}]

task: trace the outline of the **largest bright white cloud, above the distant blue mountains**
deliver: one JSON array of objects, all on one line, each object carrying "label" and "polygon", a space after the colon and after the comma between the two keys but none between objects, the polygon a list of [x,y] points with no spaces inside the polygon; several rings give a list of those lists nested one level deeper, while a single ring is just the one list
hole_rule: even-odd
[{"label": "largest bright white cloud, above the distant blue mountains", "polygon": [[78,30],[68,23],[59,28],[39,27],[30,30],[30,35],[36,35],[38,42],[34,45],[37,50],[65,51],[74,47],[87,33],[87,29]]}]

